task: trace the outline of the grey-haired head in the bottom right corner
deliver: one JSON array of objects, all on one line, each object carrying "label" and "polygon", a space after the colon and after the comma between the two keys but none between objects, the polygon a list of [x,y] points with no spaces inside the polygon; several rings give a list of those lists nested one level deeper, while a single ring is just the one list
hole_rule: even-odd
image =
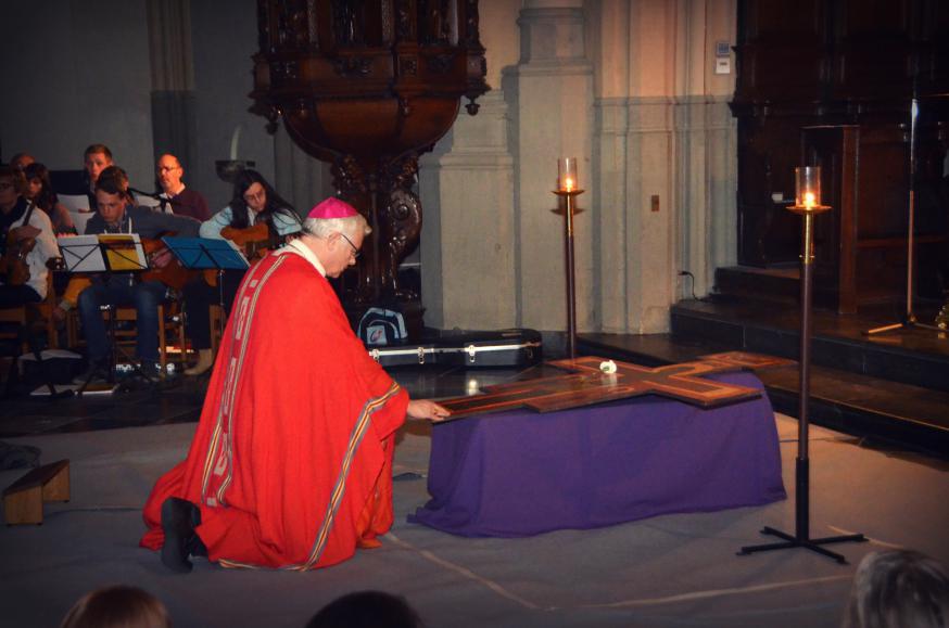
[{"label": "grey-haired head in the bottom right corner", "polygon": [[949,628],[949,576],[910,550],[873,552],[853,576],[845,628]]}]

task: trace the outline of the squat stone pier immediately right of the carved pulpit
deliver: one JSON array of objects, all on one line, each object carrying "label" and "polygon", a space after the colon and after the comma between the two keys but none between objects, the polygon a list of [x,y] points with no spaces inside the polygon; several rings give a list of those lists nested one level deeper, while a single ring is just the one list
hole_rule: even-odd
[{"label": "squat stone pier immediately right of the carved pulpit", "polygon": [[438,329],[504,329],[517,323],[514,159],[507,104],[482,95],[419,168],[425,323]]}]

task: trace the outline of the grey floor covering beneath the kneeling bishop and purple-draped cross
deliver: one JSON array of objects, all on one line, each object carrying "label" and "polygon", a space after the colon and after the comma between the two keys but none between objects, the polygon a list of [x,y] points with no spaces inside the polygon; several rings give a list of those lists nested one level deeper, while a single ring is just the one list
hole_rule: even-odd
[{"label": "grey floor covering beneath the kneeling bishop and purple-draped cross", "polygon": [[[418,392],[429,384],[416,382]],[[134,408],[111,420],[137,424]],[[166,572],[139,549],[140,508],[155,478],[186,453],[193,423],[7,438],[72,460],[73,499],[48,504],[42,526],[0,528],[4,626],[56,626],[86,591],[134,584],[155,593],[175,626],[302,627],[345,592],[405,595],[427,626],[838,626],[856,564],[908,547],[949,564],[947,463],[878,451],[811,431],[812,536],[861,531],[837,546],[848,565],[793,550],[736,556],[762,525],[794,525],[797,422],[776,416],[789,499],[760,508],[678,514],[524,539],[466,539],[406,523],[427,500],[428,430],[410,424],[396,449],[396,523],[376,550],[309,572],[229,571],[198,562]],[[174,422],[173,422],[174,423]],[[22,472],[0,473],[0,485]],[[511,478],[516,482],[516,478]]]}]

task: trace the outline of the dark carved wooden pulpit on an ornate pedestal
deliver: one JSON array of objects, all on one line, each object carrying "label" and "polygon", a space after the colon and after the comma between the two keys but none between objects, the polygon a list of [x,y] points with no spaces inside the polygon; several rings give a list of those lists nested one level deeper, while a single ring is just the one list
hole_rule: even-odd
[{"label": "dark carved wooden pulpit on an ornate pedestal", "polygon": [[[333,165],[374,233],[344,302],[417,300],[397,268],[421,229],[418,156],[488,90],[477,0],[258,0],[253,111]],[[420,321],[419,321],[420,322]]]}]

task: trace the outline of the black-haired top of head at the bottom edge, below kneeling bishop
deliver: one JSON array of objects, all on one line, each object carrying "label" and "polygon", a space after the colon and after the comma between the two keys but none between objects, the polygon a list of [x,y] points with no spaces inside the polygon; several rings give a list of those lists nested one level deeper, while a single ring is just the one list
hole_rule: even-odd
[{"label": "black-haired top of head at the bottom edge, below kneeling bishop", "polygon": [[337,598],[306,628],[423,628],[405,598],[384,591],[357,591]]}]

